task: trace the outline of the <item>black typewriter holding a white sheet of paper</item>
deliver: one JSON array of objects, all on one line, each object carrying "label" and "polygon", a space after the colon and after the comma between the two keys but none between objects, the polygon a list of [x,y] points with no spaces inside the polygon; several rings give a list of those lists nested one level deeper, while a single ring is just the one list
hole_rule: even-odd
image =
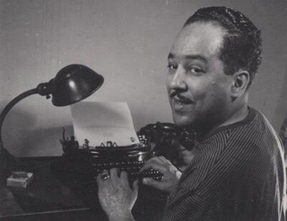
[{"label": "black typewriter holding a white sheet of paper", "polygon": [[89,146],[87,139],[83,146],[79,146],[74,137],[66,139],[63,136],[61,140],[64,152],[62,159],[66,165],[69,164],[70,168],[74,168],[74,173],[82,178],[96,178],[103,170],[117,168],[127,172],[130,181],[143,177],[152,177],[160,181],[162,174],[158,171],[139,172],[143,164],[154,154],[147,139],[144,136],[138,138],[140,143],[131,146],[117,146],[117,143],[112,141],[101,143],[100,146]]}]

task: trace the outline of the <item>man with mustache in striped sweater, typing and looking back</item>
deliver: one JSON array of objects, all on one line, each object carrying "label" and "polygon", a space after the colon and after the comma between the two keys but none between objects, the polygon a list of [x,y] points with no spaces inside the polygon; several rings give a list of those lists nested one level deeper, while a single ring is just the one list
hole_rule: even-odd
[{"label": "man with mustache in striped sweater, typing and looking back", "polygon": [[[248,107],[261,50],[260,31],[225,7],[199,9],[179,31],[167,87],[174,122],[196,131],[196,154],[182,173],[164,157],[144,164],[163,178],[143,183],[170,192],[163,220],[284,220],[283,149]],[[98,184],[109,220],[134,220],[137,182],[129,188],[126,172],[112,169]]]}]

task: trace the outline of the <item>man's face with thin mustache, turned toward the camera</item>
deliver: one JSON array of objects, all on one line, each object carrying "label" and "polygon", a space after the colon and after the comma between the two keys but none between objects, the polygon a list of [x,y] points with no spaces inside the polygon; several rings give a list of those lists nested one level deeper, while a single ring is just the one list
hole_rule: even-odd
[{"label": "man's face with thin mustache, turned toward the camera", "polygon": [[231,75],[219,59],[225,31],[211,22],[184,27],[169,55],[167,88],[174,122],[179,127],[215,127],[230,108]]}]

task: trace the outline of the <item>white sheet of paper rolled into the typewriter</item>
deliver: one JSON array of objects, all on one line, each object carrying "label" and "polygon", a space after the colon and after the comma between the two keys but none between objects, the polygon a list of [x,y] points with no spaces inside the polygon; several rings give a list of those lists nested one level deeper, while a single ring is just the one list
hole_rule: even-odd
[{"label": "white sheet of paper rolled into the typewriter", "polygon": [[[126,102],[77,102],[71,107],[74,137],[79,145],[89,146],[138,144],[131,112]],[[134,142],[133,142],[134,140]]]}]

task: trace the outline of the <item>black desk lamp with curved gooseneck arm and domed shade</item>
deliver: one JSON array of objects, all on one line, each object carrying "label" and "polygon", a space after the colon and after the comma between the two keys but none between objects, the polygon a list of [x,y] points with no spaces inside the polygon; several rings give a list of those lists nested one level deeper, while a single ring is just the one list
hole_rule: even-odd
[{"label": "black desk lamp with curved gooseneck arm and domed shade", "polygon": [[104,78],[87,66],[69,65],[62,68],[55,78],[48,83],[41,83],[36,88],[21,93],[9,102],[0,115],[0,181],[5,181],[15,157],[11,155],[3,145],[2,125],[4,118],[13,106],[22,99],[38,93],[49,99],[52,96],[52,103],[57,107],[67,106],[75,102],[80,102],[97,91]]}]

